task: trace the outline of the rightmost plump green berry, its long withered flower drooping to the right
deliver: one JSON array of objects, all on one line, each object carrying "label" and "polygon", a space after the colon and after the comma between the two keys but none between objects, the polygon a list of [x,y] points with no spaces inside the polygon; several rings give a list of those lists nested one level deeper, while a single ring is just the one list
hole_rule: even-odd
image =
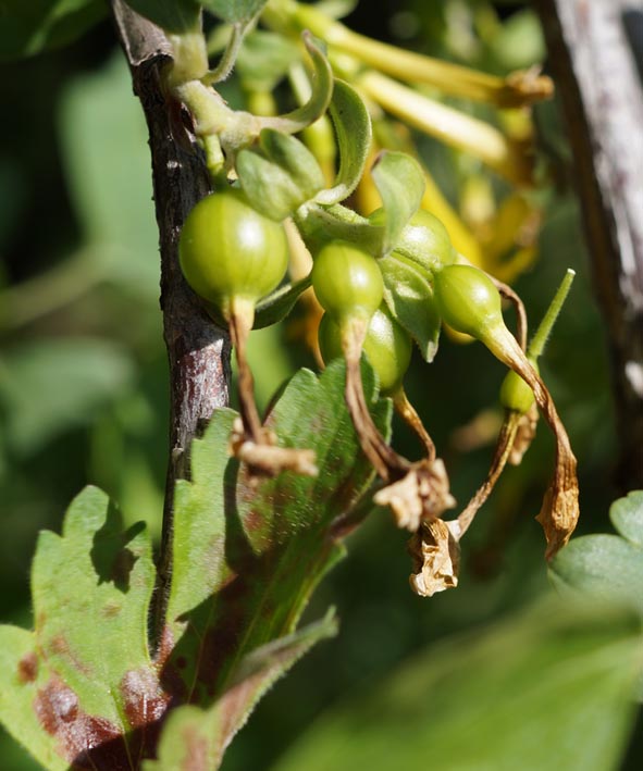
[{"label": "rightmost plump green berry, its long withered flower drooping to the right", "polygon": [[502,300],[492,279],[472,265],[446,265],[433,277],[437,311],[456,332],[487,343],[505,329]]}]

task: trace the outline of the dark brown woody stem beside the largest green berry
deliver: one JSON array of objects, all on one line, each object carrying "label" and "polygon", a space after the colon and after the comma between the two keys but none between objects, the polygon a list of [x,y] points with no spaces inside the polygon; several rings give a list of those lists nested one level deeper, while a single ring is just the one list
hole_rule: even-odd
[{"label": "dark brown woody stem beside the largest green berry", "polygon": [[121,0],[112,2],[116,29],[132,71],[149,129],[154,204],[161,252],[161,309],[170,363],[170,458],[165,485],[159,579],[152,609],[158,641],[172,577],[173,499],[177,478],[189,473],[189,446],[205,422],[227,405],[230,340],[213,325],[178,265],[183,222],[209,191],[201,153],[182,115],[164,90],[161,71],[170,59],[163,33]]}]

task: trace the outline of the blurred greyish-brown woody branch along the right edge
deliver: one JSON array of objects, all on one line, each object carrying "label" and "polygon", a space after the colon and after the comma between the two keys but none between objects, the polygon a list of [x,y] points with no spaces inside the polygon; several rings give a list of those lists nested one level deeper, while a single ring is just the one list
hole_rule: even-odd
[{"label": "blurred greyish-brown woody branch along the right edge", "polygon": [[622,489],[643,487],[643,91],[631,45],[643,3],[536,0],[536,5],[609,334],[620,442],[617,483]]}]

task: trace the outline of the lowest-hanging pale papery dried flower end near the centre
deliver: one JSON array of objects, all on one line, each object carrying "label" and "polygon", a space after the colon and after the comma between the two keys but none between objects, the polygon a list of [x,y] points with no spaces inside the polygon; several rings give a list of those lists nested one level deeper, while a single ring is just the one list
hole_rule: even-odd
[{"label": "lowest-hanging pale papery dried flower end near the centre", "polygon": [[432,597],[458,585],[460,546],[449,525],[441,519],[422,522],[409,542],[413,559],[409,583],[420,597]]}]

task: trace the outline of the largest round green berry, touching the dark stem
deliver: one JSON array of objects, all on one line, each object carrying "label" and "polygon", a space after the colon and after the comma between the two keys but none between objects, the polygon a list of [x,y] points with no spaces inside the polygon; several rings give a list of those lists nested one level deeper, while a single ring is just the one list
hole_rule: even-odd
[{"label": "largest round green berry, touching the dark stem", "polygon": [[284,277],[288,246],[281,224],[257,212],[236,188],[212,192],[187,215],[181,269],[205,300],[230,315],[233,298],[255,303]]}]

